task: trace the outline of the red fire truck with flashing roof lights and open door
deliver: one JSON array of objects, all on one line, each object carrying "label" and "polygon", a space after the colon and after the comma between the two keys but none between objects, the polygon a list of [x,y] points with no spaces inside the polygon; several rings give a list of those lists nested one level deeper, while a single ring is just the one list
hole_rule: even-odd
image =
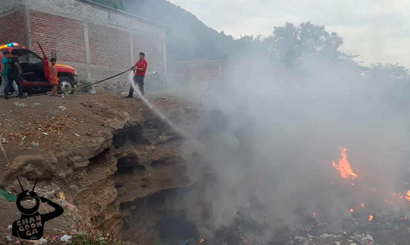
[{"label": "red fire truck with flashing roof lights and open door", "polygon": [[[11,53],[14,49],[18,51],[18,60],[24,71],[21,74],[21,85],[23,92],[35,94],[50,91],[53,88],[53,85],[47,79],[49,69],[48,60],[45,58],[44,52],[42,58],[33,51],[20,47],[18,43],[13,42],[0,46],[0,60],[3,58],[4,51],[8,50]],[[56,58],[55,51],[52,51],[51,57]],[[58,73],[57,90],[71,89],[78,83],[78,75],[74,68],[56,64],[55,69]],[[74,90],[71,90],[68,93],[73,94]]]}]

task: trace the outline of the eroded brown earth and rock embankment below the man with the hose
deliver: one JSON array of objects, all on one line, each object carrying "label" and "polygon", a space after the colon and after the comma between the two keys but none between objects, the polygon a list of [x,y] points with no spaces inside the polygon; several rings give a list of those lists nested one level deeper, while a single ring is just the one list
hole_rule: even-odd
[{"label": "eroded brown earth and rock embankment below the man with the hose", "polygon": [[[179,126],[195,120],[186,102],[149,100],[178,118]],[[2,102],[0,123],[0,189],[18,194],[17,177],[27,189],[38,177],[37,194],[64,208],[45,228],[49,240],[96,227],[117,239],[160,244],[155,226],[159,210],[167,208],[157,199],[196,180],[192,169],[200,161],[190,143],[137,99],[89,94],[13,99]],[[1,202],[7,208],[1,232],[11,235],[5,227],[19,213],[15,203]]]}]

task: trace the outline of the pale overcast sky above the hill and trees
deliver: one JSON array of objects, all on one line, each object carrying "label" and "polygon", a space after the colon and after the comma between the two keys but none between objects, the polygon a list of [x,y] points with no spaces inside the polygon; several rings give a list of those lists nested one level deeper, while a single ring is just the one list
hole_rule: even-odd
[{"label": "pale overcast sky above the hill and trees", "polygon": [[410,0],[171,0],[227,35],[270,35],[286,21],[312,21],[344,37],[358,61],[410,68]]}]

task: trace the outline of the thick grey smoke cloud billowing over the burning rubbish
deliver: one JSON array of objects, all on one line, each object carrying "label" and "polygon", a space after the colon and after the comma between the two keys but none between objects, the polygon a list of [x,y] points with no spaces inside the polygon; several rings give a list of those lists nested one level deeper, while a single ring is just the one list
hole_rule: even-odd
[{"label": "thick grey smoke cloud billowing over the burning rubbish", "polygon": [[[236,61],[228,79],[184,89],[205,107],[203,130],[192,138],[214,175],[205,192],[184,199],[197,210],[195,196],[204,197],[214,227],[238,211],[293,228],[316,212],[319,224],[339,232],[351,208],[409,214],[404,199],[386,203],[393,191],[406,192],[409,84],[402,80],[352,72],[319,55],[292,68],[255,56]],[[332,166],[342,147],[355,179]],[[190,219],[200,221],[197,213]]]}]

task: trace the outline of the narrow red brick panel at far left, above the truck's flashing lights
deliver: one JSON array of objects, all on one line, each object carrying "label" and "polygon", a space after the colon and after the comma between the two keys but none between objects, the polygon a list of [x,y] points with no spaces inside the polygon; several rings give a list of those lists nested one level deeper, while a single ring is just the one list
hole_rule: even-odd
[{"label": "narrow red brick panel at far left, above the truck's flashing lights", "polygon": [[23,47],[26,45],[24,18],[21,11],[0,18],[0,23],[0,45],[9,42],[18,42]]}]

